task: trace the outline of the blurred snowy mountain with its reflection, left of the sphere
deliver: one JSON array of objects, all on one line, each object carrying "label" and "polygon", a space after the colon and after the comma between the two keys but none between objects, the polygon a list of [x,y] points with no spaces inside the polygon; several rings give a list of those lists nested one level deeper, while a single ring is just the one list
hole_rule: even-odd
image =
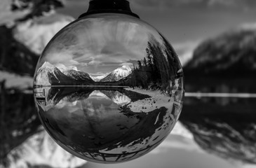
[{"label": "blurred snowy mountain with its reflection, left of the sphere", "polygon": [[48,137],[36,116],[32,78],[50,38],[74,20],[55,13],[63,1],[0,2],[0,167],[78,167],[85,161]]}]

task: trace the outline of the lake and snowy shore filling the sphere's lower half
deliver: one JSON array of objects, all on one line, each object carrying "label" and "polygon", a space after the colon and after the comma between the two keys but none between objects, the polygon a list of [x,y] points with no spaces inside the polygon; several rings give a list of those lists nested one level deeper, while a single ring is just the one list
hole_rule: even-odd
[{"label": "lake and snowy shore filling the sphere's lower half", "polygon": [[[42,89],[44,103],[43,94],[37,94]],[[150,91],[123,87],[35,90],[39,116],[49,134],[67,151],[88,160],[138,158],[159,145],[177,121],[174,99],[165,94],[152,97]]]}]

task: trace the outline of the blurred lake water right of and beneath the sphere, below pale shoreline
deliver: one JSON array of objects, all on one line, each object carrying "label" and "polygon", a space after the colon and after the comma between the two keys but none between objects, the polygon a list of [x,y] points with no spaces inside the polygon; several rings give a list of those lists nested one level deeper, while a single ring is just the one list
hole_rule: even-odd
[{"label": "blurred lake water right of and beneath the sphere, below pale shoreline", "polygon": [[[84,167],[256,167],[256,99],[185,97],[179,123],[148,155],[120,165]],[[220,94],[222,95],[222,94]]]}]

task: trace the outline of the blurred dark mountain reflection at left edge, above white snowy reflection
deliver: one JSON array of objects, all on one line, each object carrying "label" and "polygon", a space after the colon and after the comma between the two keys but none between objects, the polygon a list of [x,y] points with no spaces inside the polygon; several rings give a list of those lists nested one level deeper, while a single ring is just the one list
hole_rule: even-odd
[{"label": "blurred dark mountain reflection at left edge, above white snowy reflection", "polygon": [[[0,167],[8,164],[11,151],[35,134],[41,125],[32,94],[0,89]],[[19,160],[20,155],[15,155]]]}]

